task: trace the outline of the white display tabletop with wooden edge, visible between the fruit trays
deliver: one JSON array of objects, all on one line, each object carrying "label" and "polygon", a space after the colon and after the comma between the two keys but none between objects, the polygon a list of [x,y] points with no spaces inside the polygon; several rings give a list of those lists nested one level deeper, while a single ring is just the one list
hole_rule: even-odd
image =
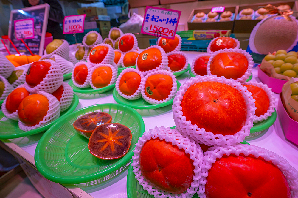
[{"label": "white display tabletop with wooden edge, visible between the fruit trays", "polygon": [[[193,59],[198,55],[200,52],[185,52],[189,58],[189,62],[191,63]],[[177,80],[180,84],[183,84],[186,80],[190,78],[189,72],[185,72],[184,74],[177,77]],[[258,72],[257,68],[253,68],[252,70],[252,80],[251,81],[258,81]],[[65,81],[67,83],[70,80]],[[76,94],[76,93],[75,93]],[[279,95],[274,94],[279,100]],[[80,99],[79,104],[74,111],[77,111],[85,107],[89,107],[95,104],[104,104],[104,103],[114,103],[116,104],[116,100],[113,97],[113,89],[107,91],[105,93],[100,94],[100,96],[96,98],[89,98],[89,99]],[[276,109],[277,110],[277,109]],[[175,126],[173,120],[173,113],[172,113],[172,104],[167,105],[165,107],[160,107],[157,109],[151,109],[150,111],[147,110],[137,110],[138,113],[143,118],[145,123],[145,131],[149,129],[153,129],[155,126],[164,126],[164,127],[172,127]],[[251,145],[260,146],[262,148],[268,149],[277,153],[278,155],[285,158],[291,166],[298,170],[298,147],[297,145],[293,144],[292,142],[288,141],[285,138],[285,134],[282,129],[281,119],[279,118],[280,113],[277,110],[278,116],[276,117],[275,122],[268,128],[268,130],[261,135],[258,135],[255,139],[246,140]],[[68,114],[70,115],[70,113]],[[274,114],[272,115],[274,116]],[[276,114],[275,114],[276,116]],[[272,117],[274,118],[274,117]],[[2,120],[0,120],[2,122]],[[268,127],[268,126],[267,126]],[[265,128],[267,128],[265,127]],[[261,129],[259,129],[261,130]],[[262,129],[261,131],[263,131]],[[127,184],[133,181],[134,174],[128,174],[128,167],[129,164],[123,164],[122,169],[119,170],[118,173],[111,175],[102,175],[101,177],[87,181],[81,182],[80,184],[57,184],[53,183],[50,180],[44,178],[36,169],[35,166],[35,159],[34,155],[36,152],[37,144],[42,137],[43,134],[48,132],[41,132],[39,134],[26,136],[26,137],[19,137],[15,139],[9,140],[1,140],[0,146],[12,153],[15,156],[18,156],[22,161],[22,164],[27,164],[32,170],[32,175],[35,176],[34,180],[46,181],[46,187],[42,186],[44,190],[49,190],[53,194],[51,197],[60,197],[55,192],[70,192],[64,193],[63,197],[83,197],[83,198],[91,198],[91,197],[102,197],[102,198],[111,198],[111,197],[128,197],[127,191]],[[134,145],[131,145],[134,146]],[[75,153],[74,153],[75,154]],[[77,158],[82,158],[80,155],[77,155]],[[34,170],[34,171],[33,171]],[[62,171],[62,170],[61,170]],[[66,170],[64,170],[66,171]],[[114,174],[114,175],[113,175]],[[129,175],[129,176],[128,176]],[[29,177],[30,178],[30,177]],[[111,179],[112,178],[112,179]],[[30,178],[32,179],[32,178]],[[36,185],[37,189],[40,190],[40,183],[39,182],[32,182]],[[54,185],[55,184],[55,185]],[[135,184],[134,184],[135,185]],[[55,186],[52,188],[51,186]],[[139,189],[143,191],[143,189]],[[49,197],[44,195],[44,197]]]}]

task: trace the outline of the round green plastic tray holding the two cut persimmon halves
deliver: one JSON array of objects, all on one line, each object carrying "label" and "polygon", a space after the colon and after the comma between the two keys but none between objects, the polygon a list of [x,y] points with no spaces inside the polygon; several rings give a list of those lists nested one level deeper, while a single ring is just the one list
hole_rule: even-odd
[{"label": "round green plastic tray holding the two cut persimmon halves", "polygon": [[[96,158],[88,150],[88,140],[74,129],[73,123],[77,118],[94,111],[109,113],[112,116],[111,122],[123,124],[131,129],[131,147],[122,158]],[[97,104],[86,107],[64,116],[44,133],[35,150],[35,165],[45,178],[57,183],[80,184],[97,180],[111,172],[119,171],[131,160],[135,144],[144,131],[143,118],[130,107],[121,104]]]}]

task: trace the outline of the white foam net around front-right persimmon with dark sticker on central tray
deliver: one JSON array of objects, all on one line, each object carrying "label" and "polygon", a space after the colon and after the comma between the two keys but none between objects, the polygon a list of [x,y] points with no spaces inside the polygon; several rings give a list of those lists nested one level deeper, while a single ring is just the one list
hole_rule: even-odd
[{"label": "white foam net around front-right persimmon with dark sticker on central tray", "polygon": [[[149,76],[152,76],[152,75],[155,75],[155,74],[164,74],[164,75],[168,75],[168,76],[170,76],[172,78],[172,82],[173,82],[172,90],[170,92],[170,95],[168,95],[167,98],[164,99],[164,100],[151,99],[148,96],[146,96],[146,94],[145,94],[145,90],[146,90],[145,84],[146,84],[146,81],[147,81],[147,79],[148,79]],[[176,91],[177,91],[177,81],[176,81],[175,75],[172,72],[169,72],[169,71],[166,71],[166,70],[156,70],[156,71],[153,71],[153,72],[148,73],[148,75],[146,75],[145,77],[143,77],[141,79],[141,94],[142,94],[142,98],[146,102],[148,102],[150,104],[160,104],[160,103],[163,103],[163,102],[167,102],[170,99],[173,99],[175,97]]]}]

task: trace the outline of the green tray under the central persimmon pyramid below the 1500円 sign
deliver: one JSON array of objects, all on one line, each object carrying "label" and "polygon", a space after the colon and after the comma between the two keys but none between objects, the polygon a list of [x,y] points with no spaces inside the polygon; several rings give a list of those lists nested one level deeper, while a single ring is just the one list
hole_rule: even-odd
[{"label": "green tray under the central persimmon pyramid below the 1500\u5186 sign", "polygon": [[[177,82],[177,91],[178,91],[181,84],[178,81],[176,81],[176,82]],[[120,96],[118,94],[116,88],[113,90],[113,97],[117,103],[124,104],[124,105],[134,108],[134,109],[157,109],[160,107],[165,107],[167,105],[173,104],[173,102],[174,102],[174,98],[167,102],[163,102],[161,104],[149,104],[143,98],[139,98],[136,100],[128,100],[128,99],[125,99],[122,96]]]}]

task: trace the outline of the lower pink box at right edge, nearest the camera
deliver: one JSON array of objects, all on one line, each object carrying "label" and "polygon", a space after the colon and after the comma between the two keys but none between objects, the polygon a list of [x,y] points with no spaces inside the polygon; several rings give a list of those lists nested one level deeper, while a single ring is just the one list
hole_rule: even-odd
[{"label": "lower pink box at right edge, nearest the camera", "polygon": [[277,112],[280,117],[283,132],[285,133],[285,138],[298,145],[298,122],[291,119],[286,112],[285,107],[283,107],[283,102],[281,101],[281,94],[278,100]]}]

